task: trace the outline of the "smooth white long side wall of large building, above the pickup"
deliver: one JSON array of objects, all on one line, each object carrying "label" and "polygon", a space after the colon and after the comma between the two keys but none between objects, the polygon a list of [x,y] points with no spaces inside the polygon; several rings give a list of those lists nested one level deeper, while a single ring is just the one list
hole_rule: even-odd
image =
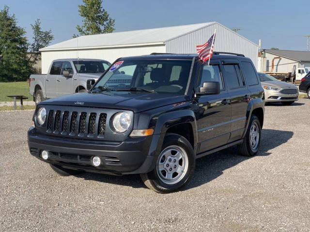
[{"label": "smooth white long side wall of large building, above the pickup", "polygon": [[166,52],[165,45],[135,46],[121,48],[98,48],[80,50],[42,51],[42,73],[47,73],[50,63],[54,59],[62,58],[93,58],[105,59],[110,63],[120,57],[149,55],[152,52]]}]

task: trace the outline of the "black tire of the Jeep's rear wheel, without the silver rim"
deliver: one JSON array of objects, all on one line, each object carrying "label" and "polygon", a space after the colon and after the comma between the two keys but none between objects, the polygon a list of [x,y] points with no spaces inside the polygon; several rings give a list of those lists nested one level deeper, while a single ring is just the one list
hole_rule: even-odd
[{"label": "black tire of the Jeep's rear wheel, without the silver rim", "polygon": [[[252,147],[252,145],[250,143],[250,132],[251,132],[251,128],[254,124],[256,125],[257,131],[258,131],[258,145],[255,147]],[[258,117],[256,115],[252,115],[250,118],[250,122],[248,124],[247,133],[243,139],[243,143],[238,145],[238,150],[239,150],[240,154],[243,156],[248,156],[248,157],[255,156],[257,151],[260,148],[261,137],[262,137],[261,123],[258,120]]]}]

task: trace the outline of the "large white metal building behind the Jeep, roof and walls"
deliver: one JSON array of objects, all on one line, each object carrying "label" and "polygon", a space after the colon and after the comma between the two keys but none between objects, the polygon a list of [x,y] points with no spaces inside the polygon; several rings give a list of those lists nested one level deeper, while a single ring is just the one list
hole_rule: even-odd
[{"label": "large white metal building behind the Jeep, roof and walls", "polygon": [[42,73],[59,58],[98,58],[113,62],[127,56],[158,53],[196,53],[217,29],[215,51],[241,53],[257,66],[258,45],[217,23],[200,23],[167,28],[132,30],[80,36],[40,49]]}]

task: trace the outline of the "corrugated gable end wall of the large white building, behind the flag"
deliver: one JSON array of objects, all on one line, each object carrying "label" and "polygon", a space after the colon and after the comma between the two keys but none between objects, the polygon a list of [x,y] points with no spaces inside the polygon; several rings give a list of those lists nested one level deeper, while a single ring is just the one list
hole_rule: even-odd
[{"label": "corrugated gable end wall of the large white building, behind the flag", "polygon": [[214,50],[240,53],[250,58],[257,68],[258,45],[221,24],[214,23],[166,42],[167,53],[196,53],[196,45],[205,43],[217,29]]}]

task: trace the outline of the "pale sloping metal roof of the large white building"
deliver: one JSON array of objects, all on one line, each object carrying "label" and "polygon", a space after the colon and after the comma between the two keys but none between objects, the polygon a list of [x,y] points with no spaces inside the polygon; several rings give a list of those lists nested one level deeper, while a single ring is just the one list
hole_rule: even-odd
[{"label": "pale sloping metal roof of the large white building", "polygon": [[153,28],[142,30],[130,30],[121,32],[112,32],[97,35],[84,35],[61,43],[56,43],[40,51],[48,50],[71,50],[77,48],[103,48],[103,47],[121,47],[137,45],[160,45],[171,39],[185,35],[192,31],[202,29],[217,22],[199,23],[166,28]]}]

